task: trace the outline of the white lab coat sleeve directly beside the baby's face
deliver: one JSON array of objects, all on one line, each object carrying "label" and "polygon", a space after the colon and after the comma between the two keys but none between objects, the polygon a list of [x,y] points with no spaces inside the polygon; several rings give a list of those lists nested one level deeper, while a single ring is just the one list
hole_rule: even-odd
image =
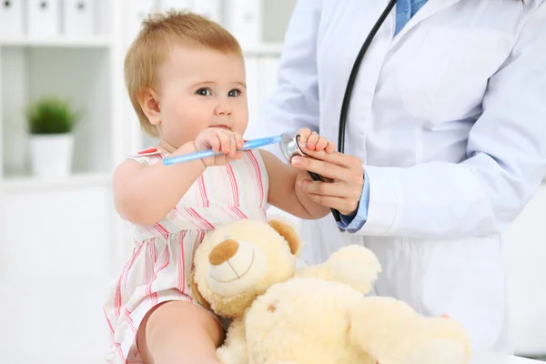
[{"label": "white lab coat sleeve directly beside the baby's face", "polygon": [[[322,0],[298,0],[285,35],[278,86],[260,112],[258,126],[268,135],[319,130],[317,33]],[[280,157],[277,146],[266,147]]]}]

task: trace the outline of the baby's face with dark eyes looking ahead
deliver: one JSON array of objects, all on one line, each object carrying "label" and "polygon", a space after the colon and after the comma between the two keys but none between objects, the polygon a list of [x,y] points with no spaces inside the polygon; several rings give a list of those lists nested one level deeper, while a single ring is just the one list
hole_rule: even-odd
[{"label": "baby's face with dark eyes looking ahead", "polygon": [[175,45],[158,72],[160,136],[181,147],[210,126],[243,135],[248,125],[242,59],[214,50]]}]

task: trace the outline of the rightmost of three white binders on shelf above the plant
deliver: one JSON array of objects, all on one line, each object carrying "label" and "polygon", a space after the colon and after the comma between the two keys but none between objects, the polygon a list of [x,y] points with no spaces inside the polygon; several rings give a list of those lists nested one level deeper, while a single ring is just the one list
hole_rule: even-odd
[{"label": "rightmost of three white binders on shelf above the plant", "polygon": [[96,0],[63,1],[63,33],[70,36],[96,34]]}]

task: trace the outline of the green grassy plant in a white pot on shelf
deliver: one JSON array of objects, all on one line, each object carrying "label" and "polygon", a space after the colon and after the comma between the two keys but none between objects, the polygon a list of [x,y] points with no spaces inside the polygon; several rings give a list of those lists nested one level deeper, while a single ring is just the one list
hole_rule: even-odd
[{"label": "green grassy plant in a white pot on shelf", "polygon": [[79,113],[59,97],[44,97],[27,109],[32,172],[36,177],[66,177],[72,169],[73,130]]}]

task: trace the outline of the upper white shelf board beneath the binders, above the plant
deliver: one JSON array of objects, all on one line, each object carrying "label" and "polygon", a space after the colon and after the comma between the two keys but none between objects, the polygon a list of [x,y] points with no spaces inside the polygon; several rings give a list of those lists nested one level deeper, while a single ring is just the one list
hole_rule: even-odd
[{"label": "upper white shelf board beneath the binders, above the plant", "polygon": [[107,36],[36,38],[0,38],[0,46],[19,47],[64,47],[64,48],[107,48],[112,44]]}]

